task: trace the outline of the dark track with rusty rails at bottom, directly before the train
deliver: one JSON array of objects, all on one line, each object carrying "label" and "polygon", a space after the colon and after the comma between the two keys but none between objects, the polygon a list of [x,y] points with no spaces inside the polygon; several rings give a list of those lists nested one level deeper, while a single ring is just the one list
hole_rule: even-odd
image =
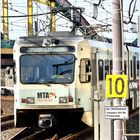
[{"label": "dark track with rusty rails at bottom, directly before the train", "polygon": [[[30,133],[30,134],[29,134]],[[62,138],[59,137],[59,134],[49,134],[45,129],[31,129],[26,128],[20,133],[13,136],[10,140],[76,140],[85,136],[93,135],[93,128],[86,128],[84,130],[70,133]]]}]

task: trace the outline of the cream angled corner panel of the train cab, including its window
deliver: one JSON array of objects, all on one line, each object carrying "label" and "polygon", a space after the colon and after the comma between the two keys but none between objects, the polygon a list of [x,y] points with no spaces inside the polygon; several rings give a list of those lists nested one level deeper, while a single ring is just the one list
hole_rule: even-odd
[{"label": "cream angled corner panel of the train cab, including its window", "polygon": [[[78,43],[78,65],[76,69],[76,104],[84,109],[82,121],[93,126],[92,117],[92,72],[91,48],[87,40]],[[79,71],[77,71],[79,70]]]}]

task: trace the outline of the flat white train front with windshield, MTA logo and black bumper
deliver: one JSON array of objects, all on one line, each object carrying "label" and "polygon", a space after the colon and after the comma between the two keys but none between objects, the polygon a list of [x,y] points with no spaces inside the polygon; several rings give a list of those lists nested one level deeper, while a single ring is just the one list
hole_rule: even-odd
[{"label": "flat white train front with windshield, MTA logo and black bumper", "polygon": [[[15,126],[58,127],[78,122],[75,47],[58,40],[21,39],[15,43]],[[42,43],[41,43],[42,42]]]}]

